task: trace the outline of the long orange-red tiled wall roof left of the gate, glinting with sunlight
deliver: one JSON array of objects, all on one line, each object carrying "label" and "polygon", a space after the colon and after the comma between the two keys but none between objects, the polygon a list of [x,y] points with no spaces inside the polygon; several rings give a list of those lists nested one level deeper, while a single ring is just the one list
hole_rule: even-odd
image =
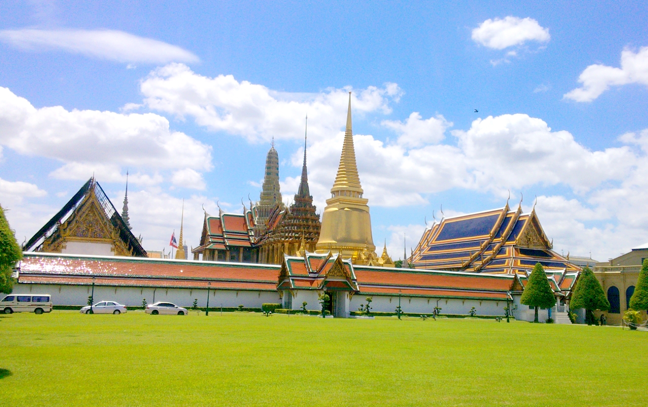
[{"label": "long orange-red tiled wall roof left of the gate, glinting with sunlight", "polygon": [[[276,290],[279,266],[229,262],[139,259],[24,253],[19,263],[19,282],[55,281],[167,287],[207,287],[232,290]],[[35,280],[34,280],[35,279]]]}]

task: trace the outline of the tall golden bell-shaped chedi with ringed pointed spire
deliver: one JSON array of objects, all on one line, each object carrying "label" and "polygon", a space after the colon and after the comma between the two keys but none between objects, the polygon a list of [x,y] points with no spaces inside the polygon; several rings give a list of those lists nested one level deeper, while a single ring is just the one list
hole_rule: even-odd
[{"label": "tall golden bell-shaped chedi with ringed pointed spire", "polygon": [[340,157],[340,167],[331,197],[322,214],[321,232],[316,244],[316,251],[342,257],[354,264],[373,264],[377,260],[376,246],[371,236],[371,217],[369,200],[362,198],[362,186],[358,176],[356,154],[353,148],[353,131],[351,130],[351,92],[349,92],[349,111],[347,112],[347,129],[344,133],[344,144]]}]

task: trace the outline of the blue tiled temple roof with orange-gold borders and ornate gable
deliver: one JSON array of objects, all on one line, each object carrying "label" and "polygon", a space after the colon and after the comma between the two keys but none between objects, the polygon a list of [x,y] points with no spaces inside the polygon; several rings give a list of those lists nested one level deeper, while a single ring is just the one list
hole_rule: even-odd
[{"label": "blue tiled temple roof with orange-gold borders and ornate gable", "polygon": [[426,229],[411,262],[415,268],[526,275],[540,262],[547,272],[580,268],[551,250],[535,209],[500,209],[443,218]]}]

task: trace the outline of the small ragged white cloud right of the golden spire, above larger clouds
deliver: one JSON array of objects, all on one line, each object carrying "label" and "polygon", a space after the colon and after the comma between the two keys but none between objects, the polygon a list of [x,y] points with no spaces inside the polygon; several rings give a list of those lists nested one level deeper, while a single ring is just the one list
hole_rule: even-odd
[{"label": "small ragged white cloud right of the golden spire, above larger clouds", "polygon": [[383,126],[399,134],[399,145],[419,147],[425,144],[438,143],[445,137],[445,130],[452,126],[442,115],[421,120],[421,114],[415,111],[405,122],[385,120]]}]

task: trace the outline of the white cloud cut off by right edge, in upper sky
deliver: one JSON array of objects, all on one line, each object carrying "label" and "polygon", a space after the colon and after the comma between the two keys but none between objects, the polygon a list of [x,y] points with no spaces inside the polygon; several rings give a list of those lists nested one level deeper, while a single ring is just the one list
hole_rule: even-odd
[{"label": "white cloud cut off by right edge, in upper sky", "polygon": [[620,68],[601,64],[590,65],[578,77],[578,82],[583,84],[583,87],[565,93],[565,99],[592,102],[610,86],[627,84],[648,86],[648,47],[642,47],[638,52],[624,49],[621,52]]}]

